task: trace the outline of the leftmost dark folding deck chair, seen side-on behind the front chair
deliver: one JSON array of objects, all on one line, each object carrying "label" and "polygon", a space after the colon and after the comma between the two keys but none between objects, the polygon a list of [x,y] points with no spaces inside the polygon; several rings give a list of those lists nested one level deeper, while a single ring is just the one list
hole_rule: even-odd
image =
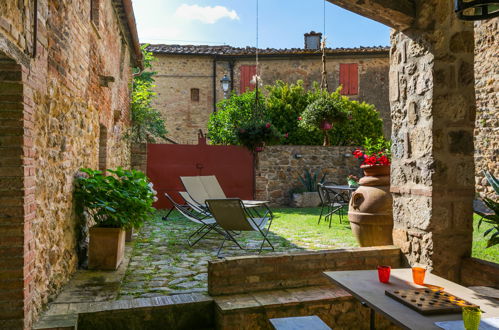
[{"label": "leftmost dark folding deck chair, seen side-on behind the front chair", "polygon": [[[167,193],[165,193],[165,197],[173,204],[173,207],[177,211],[179,211],[184,217],[186,217],[187,219],[198,225],[201,225],[197,230],[192,232],[187,238],[187,243],[189,244],[189,246],[191,247],[194,246],[202,238],[208,235],[208,233],[210,233],[212,230],[225,236],[225,233],[217,228],[217,222],[213,217],[210,217],[209,213],[205,211],[203,212],[198,211],[195,208],[189,206],[189,204],[186,205],[178,204]],[[205,232],[203,233],[203,231]],[[193,237],[195,237],[196,235],[199,235],[199,237],[193,243],[191,243],[191,239],[193,239]]]}]

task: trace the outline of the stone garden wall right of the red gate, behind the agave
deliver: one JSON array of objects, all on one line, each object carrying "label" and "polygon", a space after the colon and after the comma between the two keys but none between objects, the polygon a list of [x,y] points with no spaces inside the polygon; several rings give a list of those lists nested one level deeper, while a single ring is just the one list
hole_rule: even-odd
[{"label": "stone garden wall right of the red gate, behind the agave", "polygon": [[290,190],[300,187],[305,170],[326,173],[326,182],[346,184],[349,174],[359,176],[359,160],[352,157],[355,147],[270,146],[258,153],[256,199],[288,205]]}]

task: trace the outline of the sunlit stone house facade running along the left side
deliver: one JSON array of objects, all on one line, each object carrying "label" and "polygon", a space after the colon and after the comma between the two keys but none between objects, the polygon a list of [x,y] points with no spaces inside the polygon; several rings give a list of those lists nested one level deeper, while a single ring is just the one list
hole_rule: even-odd
[{"label": "sunlit stone house facade running along the left side", "polygon": [[77,267],[73,180],[130,165],[130,0],[0,2],[0,328],[27,329]]}]

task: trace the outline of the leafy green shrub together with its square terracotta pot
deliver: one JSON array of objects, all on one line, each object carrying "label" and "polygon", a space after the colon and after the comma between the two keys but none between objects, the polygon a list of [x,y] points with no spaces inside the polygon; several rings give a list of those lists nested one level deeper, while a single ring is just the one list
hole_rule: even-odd
[{"label": "leafy green shrub together with its square terracotta pot", "polygon": [[135,170],[107,170],[110,175],[82,169],[76,180],[78,212],[95,222],[90,228],[88,267],[115,270],[123,260],[125,230],[139,228],[153,213],[155,191],[144,173]]}]

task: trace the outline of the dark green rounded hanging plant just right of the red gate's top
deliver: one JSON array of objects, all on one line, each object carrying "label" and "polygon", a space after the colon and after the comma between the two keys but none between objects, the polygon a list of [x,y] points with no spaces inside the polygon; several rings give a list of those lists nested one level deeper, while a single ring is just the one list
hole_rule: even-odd
[{"label": "dark green rounded hanging plant just right of the red gate's top", "polygon": [[251,152],[260,152],[265,145],[278,143],[282,136],[277,129],[265,120],[253,119],[236,129],[239,143]]}]

